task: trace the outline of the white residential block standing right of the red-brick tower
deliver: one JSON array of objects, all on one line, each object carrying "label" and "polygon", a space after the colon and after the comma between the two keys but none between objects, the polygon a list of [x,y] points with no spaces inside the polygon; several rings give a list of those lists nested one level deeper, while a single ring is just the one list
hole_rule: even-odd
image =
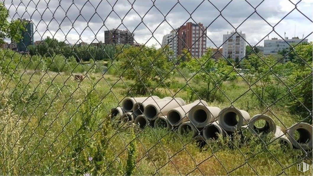
[{"label": "white residential block standing right of the red-brick tower", "polygon": [[[223,55],[237,61],[246,55],[246,34],[241,31],[223,35]],[[224,43],[225,42],[225,43]]]}]

